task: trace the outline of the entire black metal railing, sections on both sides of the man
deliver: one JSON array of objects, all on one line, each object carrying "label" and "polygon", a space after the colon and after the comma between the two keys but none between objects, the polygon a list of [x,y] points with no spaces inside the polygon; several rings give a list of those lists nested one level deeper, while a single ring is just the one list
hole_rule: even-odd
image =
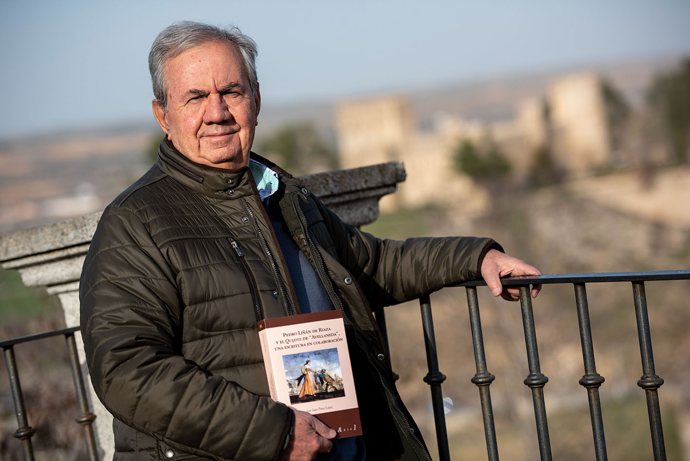
[{"label": "entire black metal railing, sections on both sides of the man", "polygon": [[[537,436],[542,461],[551,461],[551,442],[549,440],[549,426],[546,420],[546,407],[544,405],[544,385],[549,382],[540,371],[539,351],[537,336],[534,327],[534,316],[532,311],[532,301],[530,297],[530,286],[535,284],[573,284],[575,289],[575,306],[578,311],[578,324],[580,329],[580,340],[582,343],[582,359],[584,362],[584,375],[579,380],[587,391],[589,400],[589,412],[592,423],[592,433],[594,438],[594,451],[597,461],[607,460],[607,448],[604,438],[604,426],[602,424],[602,410],[599,398],[599,387],[604,382],[604,377],[596,371],[594,361],[594,348],[589,324],[589,308],[587,306],[586,284],[596,282],[631,282],[633,288],[633,303],[635,306],[635,317],[638,326],[638,337],[640,342],[640,356],[642,358],[642,377],[637,384],[644,389],[647,395],[647,411],[649,413],[649,425],[651,431],[652,447],[655,461],[666,459],[664,449],[664,435],[661,426],[661,413],[659,408],[658,389],[664,384],[664,380],[656,375],[654,371],[654,359],[651,347],[651,335],[649,332],[649,318],[647,313],[647,300],[644,293],[644,282],[653,280],[680,280],[690,279],[690,271],[654,271],[654,272],[627,272],[627,273],[586,273],[586,274],[560,274],[560,275],[540,275],[537,277],[509,277],[503,279],[504,286],[517,286],[520,289],[520,307],[522,311],[522,323],[524,327],[524,339],[527,352],[527,364],[529,373],[524,380],[524,384],[531,389],[534,406],[535,422],[537,426]],[[489,386],[495,379],[486,368],[486,356],[484,355],[484,340],[482,338],[482,322],[480,320],[479,303],[477,301],[477,286],[483,286],[483,281],[466,282],[460,284],[466,288],[467,304],[469,308],[469,318],[472,331],[472,342],[475,355],[477,372],[471,378],[471,382],[479,388],[480,403],[482,406],[482,418],[484,421],[484,434],[486,436],[486,451],[489,461],[498,460],[498,448],[496,443],[495,425],[493,422],[493,409],[491,406],[491,393]],[[449,440],[446,431],[446,420],[443,406],[442,383],[446,376],[441,373],[438,366],[436,340],[431,316],[431,302],[428,295],[420,298],[420,308],[422,311],[422,327],[424,329],[424,345],[426,348],[426,361],[428,373],[424,376],[431,389],[431,402],[435,420],[436,438],[438,453],[442,461],[449,461]],[[387,340],[386,321],[384,312],[377,313],[376,318],[380,325],[384,339]],[[79,405],[79,416],[76,421],[83,426],[86,438],[88,458],[97,461],[97,451],[92,428],[95,420],[89,409],[86,399],[86,391],[81,377],[81,369],[77,357],[77,346],[75,343],[74,332],[78,326],[64,328],[62,330],[49,331],[36,335],[17,337],[12,340],[1,341],[0,346],[5,353],[14,408],[17,415],[19,429],[14,433],[14,437],[21,440],[25,459],[33,461],[33,449],[31,437],[34,429],[28,424],[26,409],[24,407],[17,364],[14,360],[13,347],[16,344],[41,340],[46,337],[64,335],[67,342],[70,366],[72,368],[72,379],[75,384],[77,394],[77,404]],[[397,375],[394,375],[397,379]]]}]

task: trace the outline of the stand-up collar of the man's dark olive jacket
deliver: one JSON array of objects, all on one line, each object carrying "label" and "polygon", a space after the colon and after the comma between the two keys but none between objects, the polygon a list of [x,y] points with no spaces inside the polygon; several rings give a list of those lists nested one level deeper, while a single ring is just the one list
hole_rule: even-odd
[{"label": "stand-up collar of the man's dark olive jacket", "polygon": [[[272,161],[255,153],[250,153],[250,156],[274,170],[281,179],[292,179],[292,175]],[[256,191],[256,185],[248,167],[230,170],[197,164],[182,155],[167,137],[158,148],[157,166],[185,186],[215,199],[236,199],[252,195]]]}]

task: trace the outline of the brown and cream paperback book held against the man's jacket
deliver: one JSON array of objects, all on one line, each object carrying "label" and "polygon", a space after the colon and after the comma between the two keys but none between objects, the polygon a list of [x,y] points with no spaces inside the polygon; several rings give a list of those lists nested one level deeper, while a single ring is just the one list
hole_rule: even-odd
[{"label": "brown and cream paperback book held against the man's jacket", "polygon": [[258,328],[270,397],[315,415],[336,438],[362,435],[342,313],[264,319]]}]

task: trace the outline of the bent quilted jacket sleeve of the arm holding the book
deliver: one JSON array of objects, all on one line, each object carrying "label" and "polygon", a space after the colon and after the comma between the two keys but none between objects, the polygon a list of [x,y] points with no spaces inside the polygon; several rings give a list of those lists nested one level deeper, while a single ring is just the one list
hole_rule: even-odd
[{"label": "bent quilted jacket sleeve of the arm holding the book", "polygon": [[185,360],[175,274],[129,210],[103,213],[79,297],[86,362],[110,413],[205,458],[277,458],[292,411]]}]

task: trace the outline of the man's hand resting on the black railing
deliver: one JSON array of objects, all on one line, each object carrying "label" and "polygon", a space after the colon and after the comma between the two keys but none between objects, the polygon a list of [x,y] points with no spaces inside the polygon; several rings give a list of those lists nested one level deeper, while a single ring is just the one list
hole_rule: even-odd
[{"label": "man's hand resting on the black railing", "polygon": [[[482,277],[489,286],[489,290],[494,296],[501,295],[504,300],[517,301],[520,299],[520,289],[504,288],[501,285],[501,277],[506,275],[542,275],[538,268],[530,266],[522,259],[517,259],[506,253],[501,253],[497,250],[489,250],[482,261]],[[532,287],[532,297],[537,297],[537,294],[542,289],[541,285]]]}]

